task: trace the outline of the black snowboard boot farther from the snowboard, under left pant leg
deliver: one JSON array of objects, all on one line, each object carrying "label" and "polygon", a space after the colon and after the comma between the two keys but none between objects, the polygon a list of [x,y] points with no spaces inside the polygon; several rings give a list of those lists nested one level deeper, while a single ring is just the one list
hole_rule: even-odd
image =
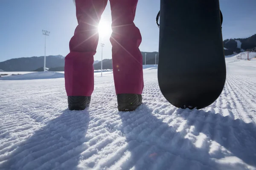
[{"label": "black snowboard boot farther from the snowboard, under left pant leg", "polygon": [[90,103],[90,96],[68,96],[67,102],[69,110],[84,110]]}]

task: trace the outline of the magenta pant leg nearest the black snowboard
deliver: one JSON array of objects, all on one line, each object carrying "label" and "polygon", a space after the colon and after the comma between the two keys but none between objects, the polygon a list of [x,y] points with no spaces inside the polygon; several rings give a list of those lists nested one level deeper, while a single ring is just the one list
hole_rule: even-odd
[{"label": "magenta pant leg nearest the black snowboard", "polygon": [[110,0],[113,76],[116,94],[142,94],[143,61],[140,30],[134,24],[138,0]]}]

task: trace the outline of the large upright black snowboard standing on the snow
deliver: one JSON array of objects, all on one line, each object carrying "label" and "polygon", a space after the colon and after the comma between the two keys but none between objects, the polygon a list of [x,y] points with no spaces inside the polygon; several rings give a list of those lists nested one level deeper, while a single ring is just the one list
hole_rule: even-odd
[{"label": "large upright black snowboard standing on the snow", "polygon": [[160,90],[177,108],[205,108],[226,80],[219,1],[160,3]]}]

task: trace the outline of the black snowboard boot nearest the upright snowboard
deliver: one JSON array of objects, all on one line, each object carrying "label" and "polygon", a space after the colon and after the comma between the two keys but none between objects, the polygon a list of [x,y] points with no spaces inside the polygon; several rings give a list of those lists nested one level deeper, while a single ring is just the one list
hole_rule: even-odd
[{"label": "black snowboard boot nearest the upright snowboard", "polygon": [[117,94],[118,111],[134,111],[141,103],[141,94]]}]

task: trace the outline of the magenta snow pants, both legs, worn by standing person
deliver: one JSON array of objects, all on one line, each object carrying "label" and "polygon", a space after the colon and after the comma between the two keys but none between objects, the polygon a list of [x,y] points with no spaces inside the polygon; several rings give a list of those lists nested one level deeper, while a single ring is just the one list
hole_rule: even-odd
[{"label": "magenta snow pants, both legs, worn by standing person", "polygon": [[[67,96],[91,96],[93,56],[99,41],[98,24],[108,0],[76,0],[78,26],[65,57]],[[138,0],[110,0],[113,77],[116,94],[142,94],[143,62],[140,30],[134,25]]]}]

